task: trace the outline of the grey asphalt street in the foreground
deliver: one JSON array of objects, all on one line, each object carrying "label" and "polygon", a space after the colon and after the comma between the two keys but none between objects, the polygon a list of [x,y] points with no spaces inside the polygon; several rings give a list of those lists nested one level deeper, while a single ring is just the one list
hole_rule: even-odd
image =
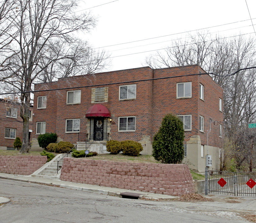
[{"label": "grey asphalt street in the foreground", "polygon": [[247,222],[243,215],[256,214],[254,197],[233,204],[220,196],[211,196],[214,202],[163,202],[124,199],[10,179],[0,179],[0,196],[10,199],[0,206],[1,223],[240,223]]}]

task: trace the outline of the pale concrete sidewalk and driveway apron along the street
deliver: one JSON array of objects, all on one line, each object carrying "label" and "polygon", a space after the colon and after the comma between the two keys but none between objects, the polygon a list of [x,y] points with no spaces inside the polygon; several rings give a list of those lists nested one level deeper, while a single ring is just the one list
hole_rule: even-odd
[{"label": "pale concrete sidewalk and driveway apron along the street", "polygon": [[[41,177],[31,177],[31,176],[22,176],[22,175],[14,175],[14,174],[6,174],[0,173],[0,179],[9,179],[9,180],[17,180],[17,181],[24,181],[30,183],[39,183],[39,184],[46,184],[46,185],[54,185],[60,186],[68,189],[73,190],[82,190],[91,193],[103,194],[103,195],[114,195],[119,196],[121,193],[130,192],[141,194],[140,198],[146,198],[150,200],[158,200],[158,199],[171,199],[175,198],[173,196],[168,195],[159,195],[153,193],[146,193],[134,190],[125,190],[119,188],[110,188],[110,187],[102,187],[102,186],[95,186],[89,184],[81,184],[81,183],[73,183],[67,181],[61,181],[59,179],[47,179]],[[256,214],[256,197],[233,197],[232,195],[203,195],[204,197],[211,198],[214,202],[179,202],[177,203],[178,206],[183,207],[186,209],[188,203],[194,203],[199,209],[209,211],[215,210],[216,212],[222,211],[236,211],[236,212],[250,212]],[[229,203],[229,201],[235,201],[239,203]],[[0,197],[0,203],[7,203],[9,199]]]}]

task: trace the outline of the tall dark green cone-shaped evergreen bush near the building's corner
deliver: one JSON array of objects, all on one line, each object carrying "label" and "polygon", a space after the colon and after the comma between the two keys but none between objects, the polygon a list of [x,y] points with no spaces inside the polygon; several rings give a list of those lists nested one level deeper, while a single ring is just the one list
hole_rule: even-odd
[{"label": "tall dark green cone-shaped evergreen bush near the building's corner", "polygon": [[152,143],[152,156],[164,164],[179,164],[183,160],[184,129],[182,121],[172,114],[166,115]]}]

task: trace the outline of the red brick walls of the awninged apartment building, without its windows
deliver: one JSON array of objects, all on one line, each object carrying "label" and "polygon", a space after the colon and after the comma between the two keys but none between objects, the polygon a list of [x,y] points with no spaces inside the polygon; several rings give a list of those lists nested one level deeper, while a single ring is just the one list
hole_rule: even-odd
[{"label": "red brick walls of the awninged apartment building, without its windows", "polygon": [[[111,139],[140,141],[143,135],[148,135],[152,141],[164,115],[173,113],[175,115],[192,115],[192,131],[185,131],[185,141],[188,141],[193,135],[200,135],[202,144],[206,144],[209,119],[223,121],[223,114],[218,109],[218,99],[223,98],[223,90],[209,75],[185,76],[200,72],[204,73],[204,70],[197,65],[155,70],[144,67],[98,73],[94,76],[62,78],[49,84],[37,84],[35,90],[42,89],[45,86],[47,89],[70,86],[88,87],[79,88],[81,90],[81,103],[74,105],[66,105],[67,91],[79,89],[35,93],[33,138],[37,138],[37,135],[34,135],[36,122],[46,121],[46,132],[56,132],[64,141],[76,143],[78,133],[65,133],[65,120],[79,118],[80,132],[87,133],[87,118],[85,115],[89,107],[94,104],[91,103],[92,88],[108,86],[108,102],[102,102],[101,104],[106,106],[111,113],[113,120],[110,131]],[[139,81],[162,77],[173,78]],[[119,101],[119,86],[127,85],[127,83],[106,85],[124,81],[137,81],[128,83],[137,85],[135,100]],[[192,82],[192,98],[177,99],[177,83],[188,81]],[[204,85],[204,101],[199,99],[200,83]],[[43,95],[47,95],[47,108],[36,109],[37,97]],[[204,133],[199,131],[199,115],[204,116]],[[120,116],[136,116],[136,131],[118,132],[118,117]],[[209,146],[219,146],[219,137],[216,137],[216,132],[218,132],[218,125],[212,125],[212,131],[209,134]]]}]

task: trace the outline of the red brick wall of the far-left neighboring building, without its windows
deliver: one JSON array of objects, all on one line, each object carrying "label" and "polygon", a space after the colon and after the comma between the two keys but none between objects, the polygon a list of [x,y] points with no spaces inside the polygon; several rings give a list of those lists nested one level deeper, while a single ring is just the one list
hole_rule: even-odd
[{"label": "red brick wall of the far-left neighboring building, without its windows", "polygon": [[[17,118],[6,117],[7,107],[14,107],[18,109]],[[33,113],[32,107],[30,110],[32,111],[31,113]],[[13,147],[15,139],[5,138],[5,128],[16,129],[16,137],[20,137],[22,141],[23,120],[20,117],[20,106],[17,104],[13,105],[13,103],[0,99],[0,146]],[[29,122],[29,129],[32,129],[32,121]]]}]

